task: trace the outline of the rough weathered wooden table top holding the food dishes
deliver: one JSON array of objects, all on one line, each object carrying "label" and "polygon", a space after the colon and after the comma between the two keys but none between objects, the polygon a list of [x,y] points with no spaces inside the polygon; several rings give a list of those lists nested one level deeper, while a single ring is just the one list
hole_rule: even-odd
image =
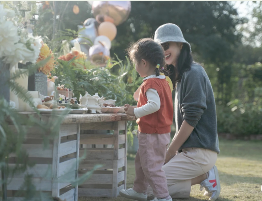
[{"label": "rough weathered wooden table top holding the food dishes", "polygon": [[61,116],[63,118],[62,124],[85,124],[85,123],[93,123],[93,122],[112,122],[112,121],[134,121],[136,120],[135,116],[130,116],[127,114],[68,114],[68,115],[50,115],[50,114],[42,114],[39,116],[34,112],[19,112],[18,115],[21,118],[29,118],[29,116],[33,116],[34,118],[48,121],[50,118],[59,118]]}]

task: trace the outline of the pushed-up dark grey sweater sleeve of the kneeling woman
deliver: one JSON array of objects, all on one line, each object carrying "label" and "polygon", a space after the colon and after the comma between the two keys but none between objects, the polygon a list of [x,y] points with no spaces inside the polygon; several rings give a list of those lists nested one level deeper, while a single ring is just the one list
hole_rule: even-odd
[{"label": "pushed-up dark grey sweater sleeve of the kneeling woman", "polygon": [[195,127],[201,119],[204,110],[207,108],[206,77],[202,70],[187,72],[183,83],[182,96],[181,109],[183,119],[187,121],[189,125]]}]

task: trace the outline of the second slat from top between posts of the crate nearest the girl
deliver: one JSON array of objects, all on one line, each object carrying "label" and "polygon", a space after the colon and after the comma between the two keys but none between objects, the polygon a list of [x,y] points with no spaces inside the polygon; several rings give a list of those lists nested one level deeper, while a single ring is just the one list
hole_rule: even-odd
[{"label": "second slat from top between posts of the crate nearest the girl", "polygon": [[113,135],[81,134],[80,144],[113,144]]}]

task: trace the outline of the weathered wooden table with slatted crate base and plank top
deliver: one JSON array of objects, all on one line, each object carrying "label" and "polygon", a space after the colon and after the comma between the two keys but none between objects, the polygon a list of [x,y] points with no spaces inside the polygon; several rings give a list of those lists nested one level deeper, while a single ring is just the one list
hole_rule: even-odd
[{"label": "weathered wooden table with slatted crate base and plank top", "polygon": [[[20,113],[22,118],[35,113]],[[42,115],[41,120],[50,121],[56,116]],[[127,174],[127,121],[135,117],[126,114],[69,114],[64,117],[59,135],[50,140],[47,149],[40,149],[42,139],[37,128],[28,131],[23,147],[29,159],[36,165],[27,172],[33,174],[32,181],[39,191],[49,191],[52,196],[62,200],[77,201],[77,197],[117,197],[126,188]],[[80,130],[88,131],[81,132]],[[107,132],[105,132],[107,131]],[[94,147],[92,145],[100,145]],[[88,147],[88,148],[87,148]],[[79,157],[85,158],[77,163]],[[70,188],[68,182],[58,182],[66,176],[69,180],[78,178],[90,171],[96,164],[103,165],[83,184]],[[10,158],[9,166],[15,165],[15,156]],[[50,170],[49,177],[48,170]],[[8,197],[24,182],[24,174],[15,175],[8,184]],[[21,198],[16,198],[20,200]]]}]

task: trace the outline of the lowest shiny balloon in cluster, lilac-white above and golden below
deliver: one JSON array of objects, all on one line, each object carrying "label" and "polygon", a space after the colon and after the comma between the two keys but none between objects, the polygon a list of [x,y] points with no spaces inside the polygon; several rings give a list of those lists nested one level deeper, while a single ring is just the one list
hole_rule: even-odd
[{"label": "lowest shiny balloon in cluster, lilac-white above and golden below", "polygon": [[105,64],[110,58],[109,50],[102,44],[94,45],[89,49],[89,57],[92,63]]}]

